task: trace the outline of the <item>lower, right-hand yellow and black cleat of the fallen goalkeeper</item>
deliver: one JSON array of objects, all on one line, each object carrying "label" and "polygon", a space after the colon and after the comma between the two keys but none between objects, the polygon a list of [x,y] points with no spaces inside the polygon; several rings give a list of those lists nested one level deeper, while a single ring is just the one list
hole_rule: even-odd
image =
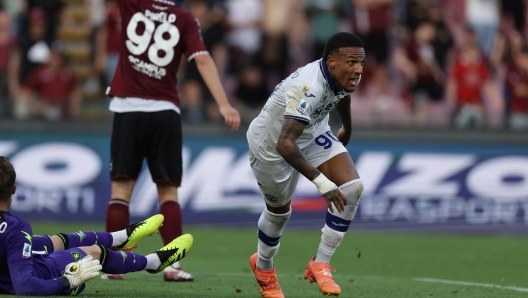
[{"label": "lower, right-hand yellow and black cleat of the fallen goalkeeper", "polygon": [[172,240],[171,243],[165,245],[164,247],[158,249],[155,254],[158,255],[161,265],[158,267],[158,269],[147,270],[147,272],[152,274],[161,272],[168,266],[185,258],[192,247],[193,241],[194,239],[191,234],[185,234]]}]

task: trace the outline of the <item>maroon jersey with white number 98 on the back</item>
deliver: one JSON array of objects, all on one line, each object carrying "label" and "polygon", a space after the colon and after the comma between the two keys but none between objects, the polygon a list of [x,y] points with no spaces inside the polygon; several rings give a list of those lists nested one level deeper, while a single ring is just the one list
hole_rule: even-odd
[{"label": "maroon jersey with white number 98 on the back", "polygon": [[107,93],[166,100],[180,106],[176,73],[181,55],[207,53],[195,17],[172,0],[118,0],[119,62]]}]

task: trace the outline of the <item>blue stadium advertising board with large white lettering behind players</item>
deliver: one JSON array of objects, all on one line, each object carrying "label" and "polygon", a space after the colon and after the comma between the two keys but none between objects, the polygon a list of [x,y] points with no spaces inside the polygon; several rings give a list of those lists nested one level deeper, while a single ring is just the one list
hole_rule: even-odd
[{"label": "blue stadium advertising board with large white lettering behind players", "polygon": [[[27,219],[103,221],[110,196],[108,135],[0,134],[17,170],[12,211]],[[187,224],[256,225],[263,200],[244,139],[184,140],[179,190]],[[528,150],[522,146],[352,142],[365,184],[354,224],[363,228],[528,225]],[[291,225],[320,226],[325,202],[301,176]],[[158,210],[148,170],[131,204]]]}]

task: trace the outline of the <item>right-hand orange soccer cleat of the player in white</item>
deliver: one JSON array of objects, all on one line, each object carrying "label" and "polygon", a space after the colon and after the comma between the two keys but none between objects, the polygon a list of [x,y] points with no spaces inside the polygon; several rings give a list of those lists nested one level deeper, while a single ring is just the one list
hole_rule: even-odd
[{"label": "right-hand orange soccer cleat of the player in white", "polygon": [[304,270],[304,279],[310,281],[310,283],[317,282],[321,294],[328,296],[339,296],[341,294],[341,288],[335,283],[332,277],[332,271],[335,272],[335,268],[325,263],[314,262],[313,257],[306,270]]}]

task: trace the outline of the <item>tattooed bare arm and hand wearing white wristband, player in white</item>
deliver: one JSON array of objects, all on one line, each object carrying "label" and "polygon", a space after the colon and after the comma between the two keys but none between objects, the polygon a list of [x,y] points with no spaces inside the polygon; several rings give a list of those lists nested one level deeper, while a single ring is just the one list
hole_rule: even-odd
[{"label": "tattooed bare arm and hand wearing white wristband, player in white", "polygon": [[[276,149],[293,168],[310,181],[314,181],[318,177],[321,177],[322,174],[317,168],[308,162],[296,142],[302,134],[305,126],[306,124],[299,120],[285,119],[277,141]],[[341,193],[339,188],[335,187],[321,195],[332,212],[334,212],[332,205],[334,205],[340,213],[343,212],[346,205],[346,197]]]}]

